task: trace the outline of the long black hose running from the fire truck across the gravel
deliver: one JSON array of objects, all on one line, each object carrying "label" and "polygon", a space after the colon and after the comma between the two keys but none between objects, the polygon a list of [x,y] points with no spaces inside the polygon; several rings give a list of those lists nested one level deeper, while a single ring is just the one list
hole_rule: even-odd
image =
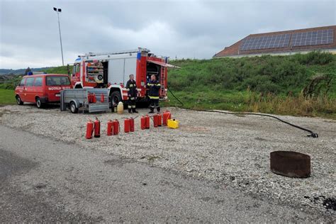
[{"label": "long black hose running from the fire truck across the gravel", "polygon": [[190,110],[190,111],[203,111],[203,112],[211,112],[211,113],[226,113],[226,114],[233,114],[233,115],[253,115],[253,116],[264,116],[264,117],[269,117],[269,118],[274,118],[278,121],[281,121],[282,123],[286,123],[287,125],[291,125],[294,128],[298,128],[301,130],[304,130],[308,133],[310,133],[310,135],[307,135],[307,137],[312,137],[312,138],[318,138],[318,133],[314,133],[312,130],[309,130],[307,128],[302,128],[301,126],[298,125],[294,125],[293,123],[289,123],[288,121],[284,121],[281,118],[278,118],[276,116],[272,116],[269,114],[264,114],[264,113],[235,113],[235,112],[226,112],[226,111],[211,111],[211,110],[199,110],[199,109],[190,109],[190,108],[185,108],[184,107],[184,103],[182,103],[177,96],[174,95],[174,93],[172,92],[172,90],[169,89],[169,86],[167,86],[167,89],[169,90],[169,92],[172,94],[172,96],[174,96],[174,98],[179,101],[179,103],[181,103],[180,108],[184,108],[186,110]]}]

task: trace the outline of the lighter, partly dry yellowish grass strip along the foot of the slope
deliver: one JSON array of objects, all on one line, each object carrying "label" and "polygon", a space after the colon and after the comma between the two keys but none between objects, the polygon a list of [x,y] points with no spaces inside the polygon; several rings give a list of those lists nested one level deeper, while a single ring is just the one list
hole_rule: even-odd
[{"label": "lighter, partly dry yellowish grass strip along the foot of the slope", "polygon": [[[268,94],[262,96],[252,91],[201,92],[186,94],[176,91],[174,95],[184,103],[184,108],[225,110],[236,112],[261,112],[291,116],[319,116],[336,120],[336,99],[330,97],[277,96]],[[172,94],[164,106],[181,107]]]}]

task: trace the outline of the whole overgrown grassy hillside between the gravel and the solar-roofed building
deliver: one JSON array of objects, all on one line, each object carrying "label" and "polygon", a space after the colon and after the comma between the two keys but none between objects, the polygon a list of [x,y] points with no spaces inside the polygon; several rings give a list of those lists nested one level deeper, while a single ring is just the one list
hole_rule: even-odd
[{"label": "whole overgrown grassy hillside between the gravel and the solar-roofed building", "polygon": [[[187,108],[336,118],[336,55],[176,60],[169,87]],[[170,105],[179,103],[170,96]]]}]

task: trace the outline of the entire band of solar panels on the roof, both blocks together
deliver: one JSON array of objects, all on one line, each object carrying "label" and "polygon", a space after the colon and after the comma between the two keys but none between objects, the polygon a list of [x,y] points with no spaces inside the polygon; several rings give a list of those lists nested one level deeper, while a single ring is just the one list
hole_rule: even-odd
[{"label": "entire band of solar panels on the roof, both blocks together", "polygon": [[316,30],[303,33],[264,35],[245,38],[240,45],[240,50],[260,50],[289,46],[325,45],[332,43],[334,43],[334,30]]}]

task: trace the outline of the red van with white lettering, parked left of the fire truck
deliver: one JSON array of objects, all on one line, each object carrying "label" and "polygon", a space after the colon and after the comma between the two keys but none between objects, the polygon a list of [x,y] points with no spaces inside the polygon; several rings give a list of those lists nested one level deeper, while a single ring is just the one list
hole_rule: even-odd
[{"label": "red van with white lettering, parked left of the fire truck", "polygon": [[16,103],[36,103],[36,106],[41,108],[45,103],[60,102],[60,91],[71,87],[67,74],[26,75],[16,86]]}]

